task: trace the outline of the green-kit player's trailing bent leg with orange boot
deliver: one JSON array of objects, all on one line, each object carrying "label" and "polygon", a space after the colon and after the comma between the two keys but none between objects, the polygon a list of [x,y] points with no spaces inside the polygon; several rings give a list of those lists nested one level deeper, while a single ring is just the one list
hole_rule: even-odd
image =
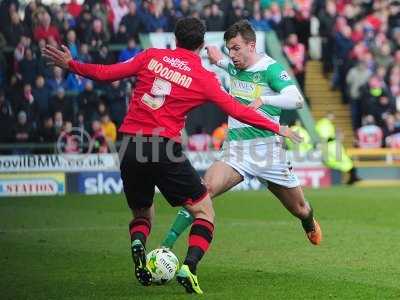
[{"label": "green-kit player's trailing bent leg with orange boot", "polygon": [[312,207],[305,200],[301,186],[289,188],[268,182],[268,189],[281,201],[290,213],[301,220],[309,241],[314,245],[319,245],[322,240],[322,231],[314,218]]}]

